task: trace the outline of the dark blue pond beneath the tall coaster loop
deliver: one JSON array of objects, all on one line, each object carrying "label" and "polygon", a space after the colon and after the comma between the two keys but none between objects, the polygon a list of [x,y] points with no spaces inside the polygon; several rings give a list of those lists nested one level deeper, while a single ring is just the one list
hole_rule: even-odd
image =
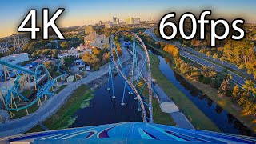
[{"label": "dark blue pond beneath the tall coaster loop", "polygon": [[[130,66],[126,66],[126,73]],[[127,75],[127,74],[126,74]],[[138,112],[138,102],[126,90],[125,103],[122,106],[122,93],[124,84],[119,74],[114,76],[114,89],[116,98],[112,98],[112,90],[107,90],[108,82],[94,90],[94,98],[90,106],[79,109],[75,114],[75,122],[70,127],[96,126],[117,122],[141,122],[142,114]]]}]

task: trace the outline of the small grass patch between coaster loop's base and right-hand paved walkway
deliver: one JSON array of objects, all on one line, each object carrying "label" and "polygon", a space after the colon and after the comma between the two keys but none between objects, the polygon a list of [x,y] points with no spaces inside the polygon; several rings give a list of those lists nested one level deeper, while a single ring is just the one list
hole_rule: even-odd
[{"label": "small grass patch between coaster loop's base and right-hand paved walkway", "polygon": [[[139,90],[142,89],[142,86],[144,85],[143,81],[138,82],[137,87]],[[149,92],[147,87],[145,86],[144,90],[142,91],[142,95],[144,97],[148,97]],[[170,126],[176,126],[176,123],[174,122],[174,119],[171,118],[170,114],[163,113],[160,105],[158,103],[158,100],[156,98],[152,98],[152,106],[153,106],[153,119],[154,123],[162,124],[162,125],[170,125]]]}]

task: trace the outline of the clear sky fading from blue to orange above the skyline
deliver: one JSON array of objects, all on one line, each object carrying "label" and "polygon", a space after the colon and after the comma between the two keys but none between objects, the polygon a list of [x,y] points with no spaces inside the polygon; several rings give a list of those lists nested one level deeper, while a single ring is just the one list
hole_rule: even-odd
[{"label": "clear sky fading from blue to orange above the skyline", "polygon": [[200,14],[202,10],[211,10],[216,18],[243,18],[247,23],[256,23],[256,0],[0,0],[0,38],[17,34],[30,9],[38,10],[40,23],[42,8],[49,8],[52,13],[65,8],[58,18],[58,27],[112,21],[112,17],[121,22],[129,17],[158,20],[170,12]]}]

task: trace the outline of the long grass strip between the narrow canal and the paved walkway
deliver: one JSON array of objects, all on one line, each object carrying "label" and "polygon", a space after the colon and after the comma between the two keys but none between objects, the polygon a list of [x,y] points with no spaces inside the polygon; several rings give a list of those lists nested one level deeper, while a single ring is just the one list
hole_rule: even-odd
[{"label": "long grass strip between the narrow canal and the paved walkway", "polygon": [[[158,50],[159,52],[162,50]],[[170,54],[163,53],[168,56]],[[210,121],[210,118],[206,117],[189,98],[186,97],[168,78],[159,70],[159,59],[150,54],[151,72],[152,76],[157,80],[158,85],[161,86],[162,90],[174,101],[180,110],[186,117],[192,122],[193,126],[200,130],[212,130],[220,131],[214,122]]]}]

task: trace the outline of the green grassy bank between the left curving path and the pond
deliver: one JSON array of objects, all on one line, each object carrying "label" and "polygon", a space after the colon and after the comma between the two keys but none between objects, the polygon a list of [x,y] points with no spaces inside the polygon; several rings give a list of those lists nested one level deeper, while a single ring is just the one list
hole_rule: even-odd
[{"label": "green grassy bank between the left curving path and the pond", "polygon": [[85,101],[92,99],[94,96],[92,90],[82,84],[74,90],[65,104],[58,109],[57,113],[48,118],[43,124],[50,130],[66,128],[74,122],[73,114],[83,105]]}]

